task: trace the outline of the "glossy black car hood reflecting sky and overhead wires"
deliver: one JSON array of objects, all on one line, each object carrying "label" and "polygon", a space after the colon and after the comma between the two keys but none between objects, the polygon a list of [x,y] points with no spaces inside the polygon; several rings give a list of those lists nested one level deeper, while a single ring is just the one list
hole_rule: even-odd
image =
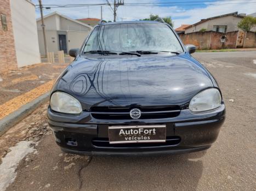
[{"label": "glossy black car hood reflecting sky and overhead wires", "polygon": [[194,58],[142,56],[78,58],[53,91],[77,98],[83,110],[91,106],[184,105],[213,82]]}]

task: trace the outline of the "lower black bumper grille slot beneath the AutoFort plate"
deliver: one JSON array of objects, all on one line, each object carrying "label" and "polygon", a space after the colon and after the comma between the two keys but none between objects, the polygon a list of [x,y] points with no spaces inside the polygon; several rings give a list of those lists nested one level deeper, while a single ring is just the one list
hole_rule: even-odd
[{"label": "lower black bumper grille slot beneath the AutoFort plate", "polygon": [[124,148],[124,147],[161,147],[161,146],[175,146],[180,143],[179,136],[167,136],[166,142],[139,142],[127,144],[109,144],[108,138],[96,138],[92,140],[95,147],[109,147],[109,148]]}]

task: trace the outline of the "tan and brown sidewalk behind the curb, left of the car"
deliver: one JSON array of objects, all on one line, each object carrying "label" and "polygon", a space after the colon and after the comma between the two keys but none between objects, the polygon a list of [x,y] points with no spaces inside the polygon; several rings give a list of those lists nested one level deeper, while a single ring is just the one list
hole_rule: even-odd
[{"label": "tan and brown sidewalk behind the curb, left of the car", "polygon": [[67,65],[40,63],[0,74],[0,120],[50,91]]}]

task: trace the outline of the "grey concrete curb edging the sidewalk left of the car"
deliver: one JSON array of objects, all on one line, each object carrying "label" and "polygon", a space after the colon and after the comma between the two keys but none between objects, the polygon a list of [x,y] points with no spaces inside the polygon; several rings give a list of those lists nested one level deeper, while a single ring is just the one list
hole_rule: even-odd
[{"label": "grey concrete curb edging the sidewalk left of the car", "polygon": [[0,120],[0,136],[3,135],[7,130],[13,127],[15,124],[20,122],[23,118],[30,115],[38,105],[49,99],[50,92],[44,93],[42,96],[34,99],[33,101],[21,106],[20,109],[12,112],[8,116]]}]

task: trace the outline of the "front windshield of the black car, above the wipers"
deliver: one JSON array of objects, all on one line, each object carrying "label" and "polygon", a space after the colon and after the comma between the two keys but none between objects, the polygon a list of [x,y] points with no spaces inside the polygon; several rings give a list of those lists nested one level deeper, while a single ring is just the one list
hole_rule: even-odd
[{"label": "front windshield of the black car, above the wipers", "polygon": [[122,23],[95,27],[83,52],[94,50],[183,52],[173,31],[162,23]]}]

